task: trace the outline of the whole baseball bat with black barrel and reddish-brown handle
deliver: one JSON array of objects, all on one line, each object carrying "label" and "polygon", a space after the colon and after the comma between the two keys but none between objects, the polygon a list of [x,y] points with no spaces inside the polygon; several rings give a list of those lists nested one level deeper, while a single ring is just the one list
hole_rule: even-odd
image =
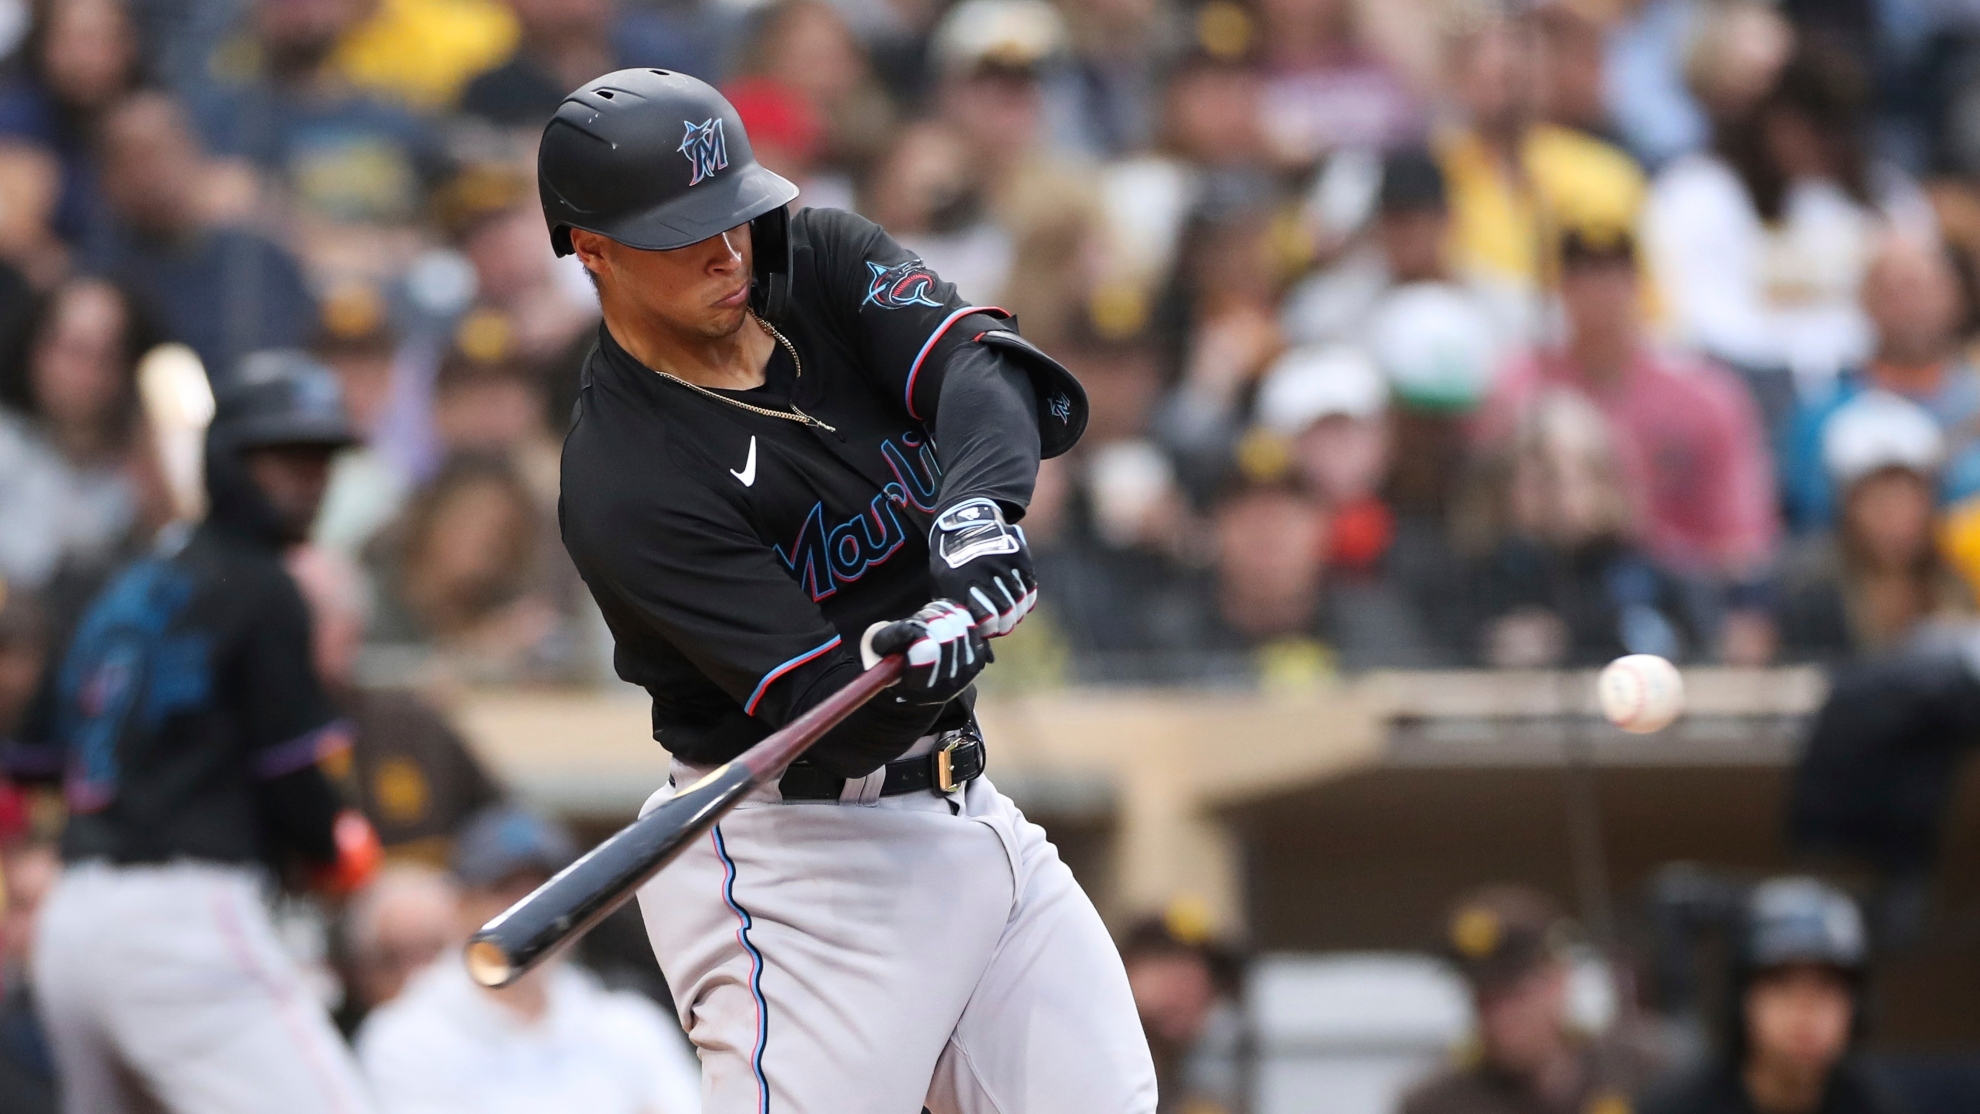
[{"label": "whole baseball bat with black barrel and reddish-brown handle", "polygon": [[467,942],[467,972],[485,987],[509,985],[626,904],[689,843],[752,789],[776,778],[840,720],[901,677],[901,655],[820,700],[784,730],[675,793],[564,867]]}]

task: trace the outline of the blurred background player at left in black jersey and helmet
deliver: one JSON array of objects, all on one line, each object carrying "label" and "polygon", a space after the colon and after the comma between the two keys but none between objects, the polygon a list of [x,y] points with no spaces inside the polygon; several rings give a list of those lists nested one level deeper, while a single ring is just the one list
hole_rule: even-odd
[{"label": "blurred background player at left in black jersey and helmet", "polygon": [[244,360],[208,429],[206,520],[111,578],[14,748],[69,803],[34,979],[71,1114],[370,1110],[261,900],[283,859],[341,886],[376,861],[317,768],[346,740],[279,560],[350,439],[327,368]]}]

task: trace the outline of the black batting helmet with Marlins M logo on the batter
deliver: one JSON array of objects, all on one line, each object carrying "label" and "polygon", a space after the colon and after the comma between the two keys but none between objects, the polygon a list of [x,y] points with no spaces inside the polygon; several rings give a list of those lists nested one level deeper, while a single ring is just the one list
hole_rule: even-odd
[{"label": "black batting helmet with Marlins M logo on the batter", "polygon": [[798,188],[756,162],[742,119],[713,85],[665,69],[620,69],[564,97],[543,127],[537,192],[550,247],[582,228],[644,251],[687,247],[750,226],[758,313],[782,309]]}]

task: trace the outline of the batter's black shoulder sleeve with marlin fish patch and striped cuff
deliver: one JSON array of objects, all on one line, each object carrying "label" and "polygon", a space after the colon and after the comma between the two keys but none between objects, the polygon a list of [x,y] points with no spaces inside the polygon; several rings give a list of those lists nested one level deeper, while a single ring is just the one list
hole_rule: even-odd
[{"label": "batter's black shoulder sleeve with marlin fish patch and striped cuff", "polygon": [[966,301],[954,283],[861,216],[804,210],[796,222],[800,243],[810,247],[810,273],[800,283],[822,291],[826,313],[859,352],[873,386],[909,418],[933,419],[948,356],[1010,313]]}]

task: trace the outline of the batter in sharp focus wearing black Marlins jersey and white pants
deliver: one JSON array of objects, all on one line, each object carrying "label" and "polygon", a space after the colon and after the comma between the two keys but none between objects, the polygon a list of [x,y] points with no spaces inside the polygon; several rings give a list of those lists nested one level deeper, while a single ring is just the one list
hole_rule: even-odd
[{"label": "batter in sharp focus wearing black Marlins jersey and white pants", "polygon": [[909,663],[640,892],[705,1110],[1152,1112],[1119,954],[970,718],[986,639],[1038,600],[1014,520],[1079,384],[873,224],[790,216],[691,77],[572,93],[539,186],[604,311],[564,544],[671,786]]}]

